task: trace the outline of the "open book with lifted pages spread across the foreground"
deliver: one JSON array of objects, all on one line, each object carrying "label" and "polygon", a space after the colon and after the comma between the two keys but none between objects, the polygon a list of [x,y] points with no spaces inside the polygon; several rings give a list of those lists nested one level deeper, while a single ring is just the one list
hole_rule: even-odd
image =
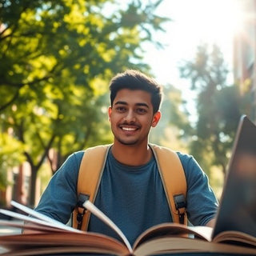
[{"label": "open book with lifted pages spread across the foreground", "polygon": [[0,226],[21,227],[33,230],[33,233],[0,235],[0,246],[6,249],[2,255],[97,253],[144,256],[196,252],[232,255],[256,254],[256,238],[250,234],[226,231],[211,238],[212,229],[210,227],[184,226],[174,223],[163,223],[151,227],[143,232],[131,246],[122,231],[89,201],[84,203],[87,210],[115,230],[122,238],[122,242],[103,234],[75,230],[17,202],[12,202],[12,205],[30,214],[31,217],[8,210],[0,210],[2,214],[27,222],[26,225],[22,225],[18,222],[0,221]]}]

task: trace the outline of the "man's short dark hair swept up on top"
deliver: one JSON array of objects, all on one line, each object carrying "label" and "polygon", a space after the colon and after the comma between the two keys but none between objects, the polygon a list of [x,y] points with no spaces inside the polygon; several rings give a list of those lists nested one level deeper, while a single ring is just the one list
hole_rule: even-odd
[{"label": "man's short dark hair swept up on top", "polygon": [[154,80],[138,70],[126,70],[118,73],[110,81],[110,102],[113,106],[114,98],[119,90],[145,90],[151,95],[151,103],[153,112],[158,112],[162,102],[162,86]]}]

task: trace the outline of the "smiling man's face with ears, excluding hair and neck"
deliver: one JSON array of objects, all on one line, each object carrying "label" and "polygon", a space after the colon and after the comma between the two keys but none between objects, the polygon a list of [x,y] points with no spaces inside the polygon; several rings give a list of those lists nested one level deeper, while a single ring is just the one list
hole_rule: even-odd
[{"label": "smiling man's face with ears, excluding hair and neck", "polygon": [[144,90],[122,89],[109,108],[114,141],[123,145],[148,142],[151,126],[158,124],[160,112],[153,114],[151,96]]}]

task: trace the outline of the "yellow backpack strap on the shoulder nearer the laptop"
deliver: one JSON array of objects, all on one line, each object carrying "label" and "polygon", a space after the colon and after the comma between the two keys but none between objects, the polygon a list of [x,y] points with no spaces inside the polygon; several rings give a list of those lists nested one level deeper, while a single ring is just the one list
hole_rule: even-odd
[{"label": "yellow backpack strap on the shoulder nearer the laptop", "polygon": [[186,175],[178,154],[166,147],[150,145],[158,164],[173,222],[187,224]]}]

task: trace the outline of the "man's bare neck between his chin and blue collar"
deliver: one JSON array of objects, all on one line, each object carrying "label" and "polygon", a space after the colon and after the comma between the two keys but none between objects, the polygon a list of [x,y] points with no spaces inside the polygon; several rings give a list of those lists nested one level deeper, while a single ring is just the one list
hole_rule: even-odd
[{"label": "man's bare neck between his chin and blue collar", "polygon": [[142,166],[152,158],[150,146],[145,145],[122,145],[119,142],[114,142],[112,146],[112,154],[118,162],[122,162],[127,166]]}]

